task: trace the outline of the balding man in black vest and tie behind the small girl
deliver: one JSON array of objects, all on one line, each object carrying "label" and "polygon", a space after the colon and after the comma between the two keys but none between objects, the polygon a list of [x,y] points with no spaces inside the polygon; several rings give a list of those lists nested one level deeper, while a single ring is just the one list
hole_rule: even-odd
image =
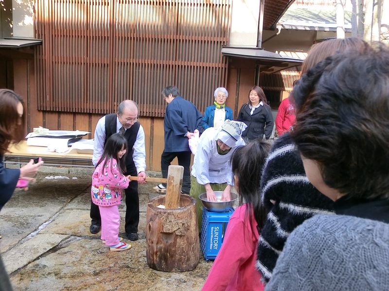
[{"label": "balding man in black vest and tie behind the small girl", "polygon": [[[144,131],[138,122],[138,105],[132,100],[124,100],[118,106],[118,113],[107,114],[97,122],[94,132],[93,165],[99,161],[103,154],[104,144],[108,137],[114,133],[124,135],[128,141],[125,165],[126,175],[138,176],[138,181],[131,181],[125,189],[125,232],[131,241],[138,240],[139,224],[139,196],[138,182],[145,183],[146,178],[146,152],[144,146]],[[101,229],[99,207],[91,203],[89,230],[98,233]]]}]

